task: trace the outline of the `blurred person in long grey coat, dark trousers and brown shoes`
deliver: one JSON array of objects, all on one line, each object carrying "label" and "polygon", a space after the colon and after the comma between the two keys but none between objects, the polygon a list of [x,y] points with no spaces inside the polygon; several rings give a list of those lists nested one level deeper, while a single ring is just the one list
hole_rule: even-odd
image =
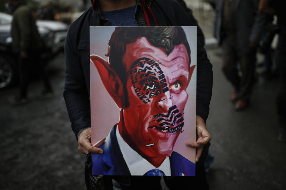
[{"label": "blurred person in long grey coat, dark trousers and brown shoes", "polygon": [[230,100],[236,102],[236,110],[248,107],[255,81],[256,50],[265,19],[258,4],[259,0],[216,3],[214,36],[223,49],[223,73],[234,87]]}]

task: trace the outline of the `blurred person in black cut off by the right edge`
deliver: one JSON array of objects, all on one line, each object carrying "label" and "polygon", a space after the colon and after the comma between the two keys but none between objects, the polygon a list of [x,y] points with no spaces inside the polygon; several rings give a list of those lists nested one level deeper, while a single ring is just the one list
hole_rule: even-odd
[{"label": "blurred person in black cut off by the right edge", "polygon": [[[270,4],[273,3],[273,7]],[[279,26],[278,52],[280,60],[279,86],[276,96],[278,113],[278,140],[286,143],[286,1],[261,0],[259,10],[267,14],[276,14]]]}]

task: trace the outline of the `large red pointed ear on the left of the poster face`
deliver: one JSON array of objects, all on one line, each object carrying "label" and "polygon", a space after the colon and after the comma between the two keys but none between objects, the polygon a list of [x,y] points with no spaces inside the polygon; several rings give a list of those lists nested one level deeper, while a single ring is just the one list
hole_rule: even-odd
[{"label": "large red pointed ear on the left of the poster face", "polygon": [[119,108],[124,105],[123,85],[117,73],[104,58],[91,55],[90,61],[96,66],[103,85]]}]

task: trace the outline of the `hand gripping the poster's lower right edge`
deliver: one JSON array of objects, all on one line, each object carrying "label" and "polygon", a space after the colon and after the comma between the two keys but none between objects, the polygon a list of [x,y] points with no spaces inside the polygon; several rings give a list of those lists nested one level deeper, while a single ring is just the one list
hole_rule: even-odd
[{"label": "hand gripping the poster's lower right edge", "polygon": [[196,131],[197,131],[197,141],[187,141],[186,145],[192,148],[197,148],[196,153],[196,162],[199,161],[200,155],[203,152],[203,146],[212,140],[211,135],[206,129],[206,124],[203,121],[203,118],[197,115],[196,117]]}]

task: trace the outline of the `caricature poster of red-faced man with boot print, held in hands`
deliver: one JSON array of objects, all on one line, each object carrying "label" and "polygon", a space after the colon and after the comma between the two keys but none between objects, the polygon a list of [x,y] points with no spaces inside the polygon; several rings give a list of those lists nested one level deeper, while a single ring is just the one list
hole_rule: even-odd
[{"label": "caricature poster of red-faced man with boot print, held in hands", "polygon": [[90,27],[92,175],[195,175],[196,31]]}]

